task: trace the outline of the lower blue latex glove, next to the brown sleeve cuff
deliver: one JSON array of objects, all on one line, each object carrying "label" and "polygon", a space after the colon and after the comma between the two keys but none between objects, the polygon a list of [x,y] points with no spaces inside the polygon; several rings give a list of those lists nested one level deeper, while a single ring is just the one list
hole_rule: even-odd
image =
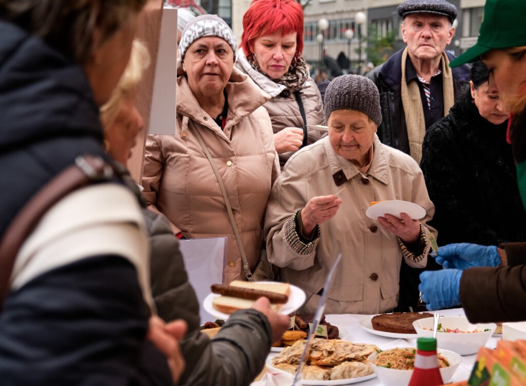
[{"label": "lower blue latex glove, next to the brown sleeve cuff", "polygon": [[424,271],[418,289],[429,311],[460,304],[460,270]]}]

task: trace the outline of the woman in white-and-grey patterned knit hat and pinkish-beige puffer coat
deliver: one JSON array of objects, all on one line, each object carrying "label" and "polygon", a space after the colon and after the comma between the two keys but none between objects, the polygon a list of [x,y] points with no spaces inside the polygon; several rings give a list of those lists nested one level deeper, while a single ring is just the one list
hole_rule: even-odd
[{"label": "woman in white-and-grey patterned knit hat and pinkish-beige puffer coat", "polygon": [[253,271],[265,207],[279,174],[270,118],[261,107],[268,96],[234,68],[234,34],[215,15],[186,25],[179,53],[176,134],[147,138],[144,196],[178,236],[227,236],[224,281],[246,280],[224,197],[196,135],[217,166]]}]

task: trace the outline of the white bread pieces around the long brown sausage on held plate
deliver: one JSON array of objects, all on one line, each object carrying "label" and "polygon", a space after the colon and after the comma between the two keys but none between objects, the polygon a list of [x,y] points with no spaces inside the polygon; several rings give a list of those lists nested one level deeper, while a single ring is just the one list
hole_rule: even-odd
[{"label": "white bread pieces around the long brown sausage on held plate", "polygon": [[[249,288],[249,289],[256,289],[261,291],[269,291],[269,292],[276,292],[276,293],[282,293],[285,295],[290,294],[290,284],[288,283],[277,283],[277,284],[270,284],[270,283],[252,283],[252,282],[245,282],[240,280],[235,280],[230,283],[230,285],[238,286],[242,288]],[[240,299],[240,298],[234,298],[232,296],[218,296],[217,298],[214,298],[212,301],[212,304],[214,306],[214,309],[217,311],[231,314],[233,312],[236,312],[237,310],[244,310],[247,308],[250,308],[252,304],[254,304],[254,300],[247,300],[247,299]],[[270,304],[270,308],[274,311],[278,311],[282,304]]]}]

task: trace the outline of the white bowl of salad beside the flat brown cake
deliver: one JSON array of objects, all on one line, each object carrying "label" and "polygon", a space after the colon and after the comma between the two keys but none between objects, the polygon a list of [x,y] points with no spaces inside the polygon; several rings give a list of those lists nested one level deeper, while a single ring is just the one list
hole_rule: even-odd
[{"label": "white bowl of salad beside the flat brown cake", "polygon": [[[437,347],[458,352],[460,355],[476,354],[481,347],[488,343],[491,334],[497,328],[495,323],[471,324],[465,316],[440,316],[439,323],[442,323],[443,329],[481,331],[471,333],[437,332]],[[433,331],[431,331],[433,318],[416,320],[413,322],[413,327],[418,336],[433,336]],[[429,330],[424,330],[424,328]]]}]

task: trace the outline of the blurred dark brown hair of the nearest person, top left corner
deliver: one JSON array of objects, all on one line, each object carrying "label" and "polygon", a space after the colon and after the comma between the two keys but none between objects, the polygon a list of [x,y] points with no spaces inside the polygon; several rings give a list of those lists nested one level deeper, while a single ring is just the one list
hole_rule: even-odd
[{"label": "blurred dark brown hair of the nearest person, top left corner", "polygon": [[80,64],[93,51],[95,28],[103,44],[147,0],[0,0],[0,19],[16,24],[29,34]]}]

